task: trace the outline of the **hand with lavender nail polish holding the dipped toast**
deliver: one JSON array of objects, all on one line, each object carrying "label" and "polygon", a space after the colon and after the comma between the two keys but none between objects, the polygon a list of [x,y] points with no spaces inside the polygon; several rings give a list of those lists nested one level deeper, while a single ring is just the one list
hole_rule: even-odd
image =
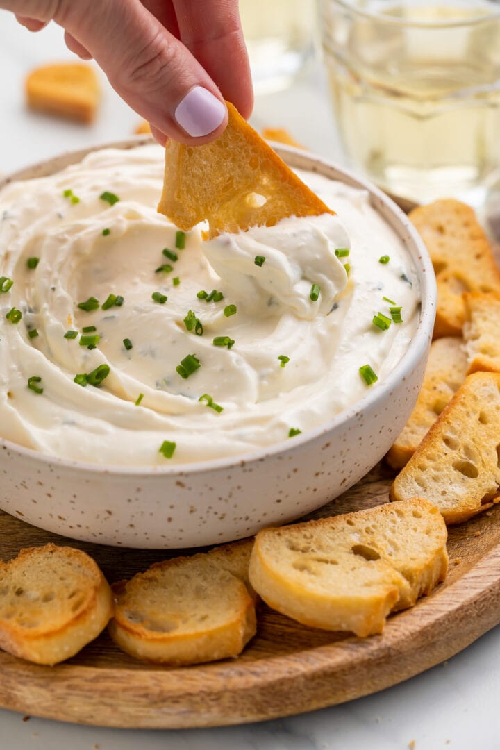
[{"label": "hand with lavender nail polish holding the dipped toast", "polygon": [[244,117],[252,111],[238,0],[0,0],[0,8],[30,31],[62,26],[69,49],[96,60],[162,144],[216,138],[227,124],[224,98]]}]

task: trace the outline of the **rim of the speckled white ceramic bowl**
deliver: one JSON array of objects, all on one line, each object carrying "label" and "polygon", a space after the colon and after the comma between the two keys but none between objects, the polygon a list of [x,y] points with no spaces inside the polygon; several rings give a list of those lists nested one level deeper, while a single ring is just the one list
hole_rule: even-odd
[{"label": "rim of the speckled white ceramic bowl", "polygon": [[[126,140],[108,142],[103,145],[93,145],[76,151],[67,151],[64,152],[64,154],[49,157],[49,159],[44,159],[31,166],[16,170],[16,172],[11,173],[10,175],[6,175],[0,180],[0,190],[13,181],[24,181],[25,179],[33,179],[38,176],[52,175],[60,169],[70,166],[70,164],[77,163],[87,154],[93,153],[94,151],[101,151],[105,148],[136,148],[139,145],[147,145],[149,143],[154,143],[154,139],[151,136],[133,136]],[[59,466],[61,469],[81,470],[87,475],[93,473],[95,475],[121,475],[123,477],[178,477],[187,474],[196,475],[220,469],[232,469],[235,466],[247,466],[251,463],[259,463],[268,458],[273,458],[280,453],[290,451],[295,452],[296,450],[301,449],[306,443],[314,442],[321,438],[322,435],[334,431],[340,424],[348,424],[356,419],[359,413],[373,407],[377,401],[383,398],[384,395],[391,392],[391,390],[397,386],[398,381],[406,379],[421,361],[422,356],[424,356],[427,350],[430,339],[432,338],[433,323],[436,317],[436,276],[434,274],[433,264],[430,260],[429,253],[424,245],[424,241],[421,239],[415,226],[413,226],[404,211],[396,202],[394,202],[394,199],[366,178],[356,174],[351,169],[337,166],[330,160],[319,157],[316,154],[311,154],[309,151],[304,151],[301,148],[295,148],[277,142],[273,142],[272,145],[274,150],[277,151],[277,154],[294,169],[306,169],[310,172],[319,172],[330,179],[341,178],[343,182],[352,187],[367,190],[370,194],[370,202],[372,202],[372,205],[373,198],[376,198],[386,209],[388,209],[388,212],[394,215],[397,222],[403,226],[408,236],[408,239],[405,240],[405,245],[413,245],[415,248],[415,251],[412,252],[410,248],[406,247],[406,251],[412,258],[412,262],[417,271],[418,282],[421,287],[420,320],[418,321],[417,329],[412,336],[408,349],[403,354],[400,362],[397,363],[396,368],[388,374],[388,377],[382,382],[379,382],[375,390],[367,389],[366,395],[358,399],[358,401],[355,401],[355,403],[347,409],[335,415],[333,419],[330,419],[319,427],[308,430],[304,434],[295,436],[293,438],[293,443],[290,443],[290,439],[286,438],[285,440],[281,440],[280,443],[274,443],[272,446],[265,446],[265,448],[250,452],[231,455],[227,458],[208,459],[193,463],[176,463],[172,466],[122,466],[115,463],[90,463],[87,461],[51,456],[27,448],[26,446],[20,446],[17,443],[13,443],[2,437],[0,437],[0,448],[7,449],[7,451],[10,452],[15,452],[29,460],[34,460],[36,463]],[[290,161],[292,163],[290,163]],[[49,165],[54,166],[49,167]],[[40,175],[37,174],[34,177],[34,172],[40,172]],[[329,172],[329,174],[326,172]],[[374,208],[379,210],[376,206],[374,206]],[[386,217],[384,217],[384,220],[388,221]],[[396,231],[392,223],[391,229]]]}]

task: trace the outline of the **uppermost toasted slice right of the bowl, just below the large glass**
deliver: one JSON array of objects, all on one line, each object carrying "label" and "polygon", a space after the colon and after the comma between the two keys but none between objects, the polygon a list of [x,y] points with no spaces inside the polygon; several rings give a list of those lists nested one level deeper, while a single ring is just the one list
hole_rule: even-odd
[{"label": "uppermost toasted slice right of the bowl, just below the large glass", "polygon": [[484,230],[469,205],[436,200],[409,214],[427,245],[438,284],[434,336],[460,336],[463,292],[500,292],[500,272]]}]

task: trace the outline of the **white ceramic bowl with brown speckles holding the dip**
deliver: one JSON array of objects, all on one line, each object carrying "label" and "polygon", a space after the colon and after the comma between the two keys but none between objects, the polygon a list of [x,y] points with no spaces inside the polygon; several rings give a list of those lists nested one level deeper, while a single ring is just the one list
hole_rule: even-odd
[{"label": "white ceramic bowl with brown speckles holding the dip", "polygon": [[[111,145],[133,148],[142,142],[145,139]],[[7,181],[51,174],[88,151],[24,169]],[[420,281],[422,305],[417,332],[397,368],[321,428],[239,458],[165,468],[106,468],[47,457],[0,440],[0,508],[85,541],[197,547],[310,513],[355,484],[388,451],[424,378],[436,308],[432,264],[406,215],[376,187],[303,151],[277,151],[290,166],[364,187],[406,246]]]}]

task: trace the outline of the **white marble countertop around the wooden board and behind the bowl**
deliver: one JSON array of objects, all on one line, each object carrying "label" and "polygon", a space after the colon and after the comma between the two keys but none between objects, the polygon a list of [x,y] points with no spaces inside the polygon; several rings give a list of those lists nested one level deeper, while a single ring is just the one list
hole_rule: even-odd
[{"label": "white marble countertop around the wooden board and behind the bowl", "polygon": [[[139,117],[106,80],[100,115],[91,127],[25,110],[27,72],[71,57],[60,29],[49,26],[31,35],[0,10],[1,174],[133,133]],[[319,68],[287,92],[258,98],[253,124],[287,127],[316,153],[346,163]],[[177,731],[82,727],[34,717],[23,721],[18,713],[0,710],[0,750],[499,750],[499,695],[497,627],[448,662],[342,706],[259,724]]]}]

